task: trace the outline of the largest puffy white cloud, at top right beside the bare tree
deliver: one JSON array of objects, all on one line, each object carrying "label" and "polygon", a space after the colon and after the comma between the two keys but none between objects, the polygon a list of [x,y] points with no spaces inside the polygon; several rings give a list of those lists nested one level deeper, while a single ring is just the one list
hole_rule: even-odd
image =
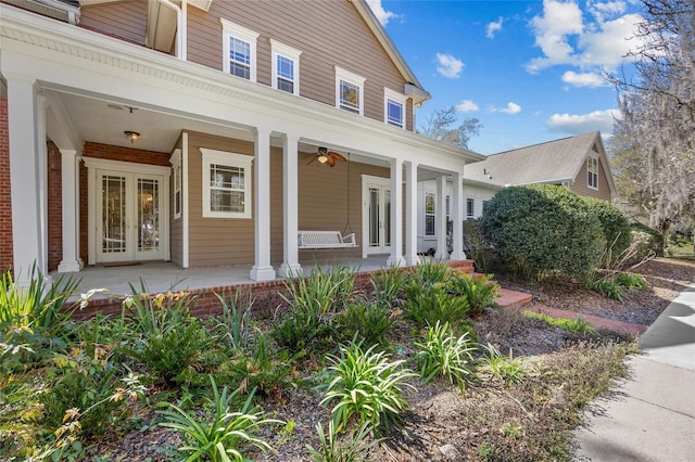
[{"label": "largest puffy white cloud, at top right beside the bare tree", "polygon": [[543,14],[530,22],[543,54],[527,63],[527,70],[538,73],[555,65],[615,69],[641,44],[634,36],[642,17],[623,14],[626,8],[624,1],[589,1],[587,15],[594,21],[589,21],[591,16],[584,21],[577,0],[544,0]]}]

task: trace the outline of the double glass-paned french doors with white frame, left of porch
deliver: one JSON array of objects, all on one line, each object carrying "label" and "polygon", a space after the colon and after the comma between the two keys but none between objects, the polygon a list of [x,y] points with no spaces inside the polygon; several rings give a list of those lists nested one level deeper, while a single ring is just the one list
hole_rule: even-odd
[{"label": "double glass-paned french doors with white frame, left of porch", "polygon": [[168,259],[169,169],[87,159],[89,264]]}]

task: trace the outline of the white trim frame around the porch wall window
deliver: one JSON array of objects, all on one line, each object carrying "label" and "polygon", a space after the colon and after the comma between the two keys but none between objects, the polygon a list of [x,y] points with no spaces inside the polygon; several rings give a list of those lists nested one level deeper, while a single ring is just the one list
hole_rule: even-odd
[{"label": "white trim frame around the porch wall window", "polygon": [[[252,190],[251,190],[251,177],[253,175],[251,170],[251,163],[253,156],[230,153],[226,151],[211,150],[207,147],[200,147],[203,159],[203,217],[205,218],[251,218],[252,204]],[[237,167],[244,169],[244,211],[216,211],[210,209],[210,167],[212,164],[225,165],[228,167]]]}]

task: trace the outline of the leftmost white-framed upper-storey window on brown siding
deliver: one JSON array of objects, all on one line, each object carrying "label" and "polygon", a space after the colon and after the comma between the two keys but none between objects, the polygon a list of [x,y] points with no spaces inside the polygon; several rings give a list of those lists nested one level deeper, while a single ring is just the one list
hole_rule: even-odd
[{"label": "leftmost white-framed upper-storey window on brown siding", "polygon": [[225,18],[223,28],[223,52],[225,73],[256,81],[256,39],[258,34]]}]

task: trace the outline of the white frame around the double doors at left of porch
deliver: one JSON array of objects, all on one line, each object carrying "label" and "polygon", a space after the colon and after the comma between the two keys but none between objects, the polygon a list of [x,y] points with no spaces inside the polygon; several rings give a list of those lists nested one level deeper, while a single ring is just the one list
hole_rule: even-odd
[{"label": "white frame around the double doors at left of porch", "polygon": [[172,175],[170,167],[164,167],[159,165],[135,164],[131,162],[122,161],[106,161],[102,158],[83,157],[85,166],[87,167],[87,240],[88,240],[88,265],[97,264],[98,252],[97,245],[99,236],[97,235],[97,215],[98,207],[101,204],[98,197],[98,188],[100,182],[98,176],[101,171],[122,172],[122,174],[136,174],[144,176],[159,176],[162,177],[162,193],[160,194],[160,222],[161,231],[160,243],[162,245],[162,255],[164,260],[170,259],[169,248],[169,177]]}]

